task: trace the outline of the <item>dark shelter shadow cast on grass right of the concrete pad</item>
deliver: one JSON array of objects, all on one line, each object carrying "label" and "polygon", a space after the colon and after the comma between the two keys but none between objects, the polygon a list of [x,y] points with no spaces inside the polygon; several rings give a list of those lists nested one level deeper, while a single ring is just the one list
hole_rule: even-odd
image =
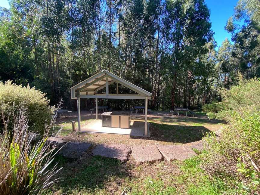
[{"label": "dark shelter shadow cast on grass right of the concrete pad", "polygon": [[199,141],[210,133],[204,126],[169,125],[165,123],[149,122],[150,138],[131,136],[132,139],[150,139],[156,141],[167,141],[186,144]]}]

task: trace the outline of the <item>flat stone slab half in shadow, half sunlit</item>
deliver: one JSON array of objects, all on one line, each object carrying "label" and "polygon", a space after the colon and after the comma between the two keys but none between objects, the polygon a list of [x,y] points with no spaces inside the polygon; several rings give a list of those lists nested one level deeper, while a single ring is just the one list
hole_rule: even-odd
[{"label": "flat stone slab half in shadow, half sunlit", "polygon": [[100,144],[92,150],[94,156],[116,158],[121,162],[125,162],[127,160],[130,152],[131,147],[125,144]]}]

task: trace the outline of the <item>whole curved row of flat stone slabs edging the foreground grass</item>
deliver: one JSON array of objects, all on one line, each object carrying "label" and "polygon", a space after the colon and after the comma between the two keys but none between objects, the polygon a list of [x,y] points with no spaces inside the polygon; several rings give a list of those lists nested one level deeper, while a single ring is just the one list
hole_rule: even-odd
[{"label": "whole curved row of flat stone slabs edging the foreground grass", "polygon": [[[63,140],[49,140],[63,143]],[[183,145],[147,145],[147,146],[134,146],[131,148],[125,144],[99,144],[92,150],[94,156],[104,156],[107,158],[116,158],[121,162],[128,160],[130,153],[137,163],[154,163],[156,161],[166,160],[185,160],[197,154],[192,150],[203,150],[208,147],[205,141],[197,141]],[[81,142],[68,142],[60,150],[60,154],[69,158],[79,158],[84,154],[91,144]]]}]

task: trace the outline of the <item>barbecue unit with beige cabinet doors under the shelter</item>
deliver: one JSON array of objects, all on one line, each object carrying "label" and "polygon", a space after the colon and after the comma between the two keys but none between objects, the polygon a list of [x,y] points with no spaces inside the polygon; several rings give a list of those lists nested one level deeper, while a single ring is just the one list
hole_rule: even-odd
[{"label": "barbecue unit with beige cabinet doors under the shelter", "polygon": [[130,128],[131,113],[104,112],[102,127]]}]

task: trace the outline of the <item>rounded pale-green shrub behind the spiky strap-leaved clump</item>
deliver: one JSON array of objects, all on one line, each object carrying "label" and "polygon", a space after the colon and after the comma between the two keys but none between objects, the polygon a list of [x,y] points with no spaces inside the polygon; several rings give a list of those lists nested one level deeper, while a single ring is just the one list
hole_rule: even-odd
[{"label": "rounded pale-green shrub behind the spiky strap-leaved clump", "polygon": [[29,131],[43,133],[45,122],[51,121],[53,108],[45,94],[35,88],[22,87],[7,81],[0,82],[0,109],[13,122],[14,115],[21,107],[25,107],[28,115]]}]

